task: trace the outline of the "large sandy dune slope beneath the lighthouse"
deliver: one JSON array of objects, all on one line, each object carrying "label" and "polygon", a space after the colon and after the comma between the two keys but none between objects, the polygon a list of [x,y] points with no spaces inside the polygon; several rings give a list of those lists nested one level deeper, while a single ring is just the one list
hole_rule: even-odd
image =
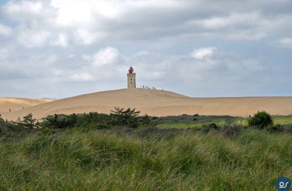
[{"label": "large sandy dune slope beneath the lighthouse", "polygon": [[141,114],[168,116],[181,114],[231,115],[246,117],[265,110],[272,115],[292,114],[292,97],[189,98],[170,91],[118,89],[84,94],[20,111],[3,114],[16,120],[28,113],[40,119],[47,115],[99,112],[109,113],[114,106],[136,108]]}]

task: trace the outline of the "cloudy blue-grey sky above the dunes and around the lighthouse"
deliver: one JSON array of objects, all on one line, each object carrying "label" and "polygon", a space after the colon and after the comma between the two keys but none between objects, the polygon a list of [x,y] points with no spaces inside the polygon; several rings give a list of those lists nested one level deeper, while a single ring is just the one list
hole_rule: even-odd
[{"label": "cloudy blue-grey sky above the dunes and around the lighthouse", "polygon": [[0,0],[0,97],[136,84],[191,97],[292,96],[291,0]]}]

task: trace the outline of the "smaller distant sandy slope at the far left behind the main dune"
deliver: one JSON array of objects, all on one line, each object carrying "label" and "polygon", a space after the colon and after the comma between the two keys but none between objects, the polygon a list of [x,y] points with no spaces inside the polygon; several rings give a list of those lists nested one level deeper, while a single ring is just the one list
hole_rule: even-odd
[{"label": "smaller distant sandy slope at the far left behind the main dune", "polygon": [[0,114],[29,108],[43,103],[52,102],[49,99],[27,99],[27,98],[0,98]]}]

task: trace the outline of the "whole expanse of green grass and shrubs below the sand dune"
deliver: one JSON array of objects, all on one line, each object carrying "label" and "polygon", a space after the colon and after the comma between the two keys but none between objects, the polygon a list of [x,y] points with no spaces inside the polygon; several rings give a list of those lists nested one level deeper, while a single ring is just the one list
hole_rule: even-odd
[{"label": "whole expanse of green grass and shrubs below the sand dune", "polygon": [[267,113],[137,114],[0,118],[0,190],[273,190],[292,176],[292,125]]}]

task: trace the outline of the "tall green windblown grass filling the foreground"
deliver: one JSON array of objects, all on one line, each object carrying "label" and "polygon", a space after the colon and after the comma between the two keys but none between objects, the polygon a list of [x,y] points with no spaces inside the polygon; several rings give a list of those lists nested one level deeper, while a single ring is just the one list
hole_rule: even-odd
[{"label": "tall green windblown grass filling the foreground", "polygon": [[136,138],[70,129],[0,142],[1,190],[274,190],[292,177],[292,136]]}]

